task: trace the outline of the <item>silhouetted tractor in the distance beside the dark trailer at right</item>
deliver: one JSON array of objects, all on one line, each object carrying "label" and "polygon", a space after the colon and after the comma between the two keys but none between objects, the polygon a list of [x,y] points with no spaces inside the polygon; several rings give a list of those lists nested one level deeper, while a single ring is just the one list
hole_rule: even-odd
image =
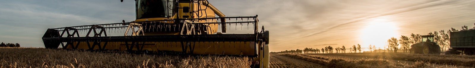
[{"label": "silhouetted tractor in the distance beside the dark trailer at right", "polygon": [[410,53],[413,54],[440,54],[440,46],[434,42],[434,35],[423,35],[422,42],[411,45]]}]

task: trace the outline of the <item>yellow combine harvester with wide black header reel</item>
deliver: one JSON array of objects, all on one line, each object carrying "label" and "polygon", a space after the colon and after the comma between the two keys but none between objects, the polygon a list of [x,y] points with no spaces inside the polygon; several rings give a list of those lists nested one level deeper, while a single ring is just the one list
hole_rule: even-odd
[{"label": "yellow combine harvester with wide black header reel", "polygon": [[269,31],[259,31],[257,15],[226,17],[208,0],[136,0],[135,12],[132,22],[49,28],[43,43],[48,49],[247,56],[251,67],[269,66]]}]

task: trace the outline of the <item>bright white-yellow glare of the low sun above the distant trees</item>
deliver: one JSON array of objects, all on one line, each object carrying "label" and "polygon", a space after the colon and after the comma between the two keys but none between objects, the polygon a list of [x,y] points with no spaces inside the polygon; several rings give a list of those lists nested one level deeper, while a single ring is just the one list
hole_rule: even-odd
[{"label": "bright white-yellow glare of the low sun above the distant trees", "polygon": [[[369,45],[374,45],[376,49],[383,49],[388,39],[391,37],[398,38],[397,29],[396,23],[390,22],[386,18],[375,18],[368,21],[367,25],[361,30],[361,48],[368,48]],[[369,49],[364,49],[364,51],[369,51]]]}]

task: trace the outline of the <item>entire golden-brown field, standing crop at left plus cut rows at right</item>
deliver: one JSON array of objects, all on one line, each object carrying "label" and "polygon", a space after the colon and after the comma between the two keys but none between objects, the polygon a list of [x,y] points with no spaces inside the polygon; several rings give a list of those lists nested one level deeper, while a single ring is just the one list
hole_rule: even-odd
[{"label": "entire golden-brown field, standing crop at left plus cut rows at right", "polygon": [[[277,53],[270,68],[474,68],[475,56],[409,53]],[[0,68],[249,68],[247,57],[0,48]]]}]

